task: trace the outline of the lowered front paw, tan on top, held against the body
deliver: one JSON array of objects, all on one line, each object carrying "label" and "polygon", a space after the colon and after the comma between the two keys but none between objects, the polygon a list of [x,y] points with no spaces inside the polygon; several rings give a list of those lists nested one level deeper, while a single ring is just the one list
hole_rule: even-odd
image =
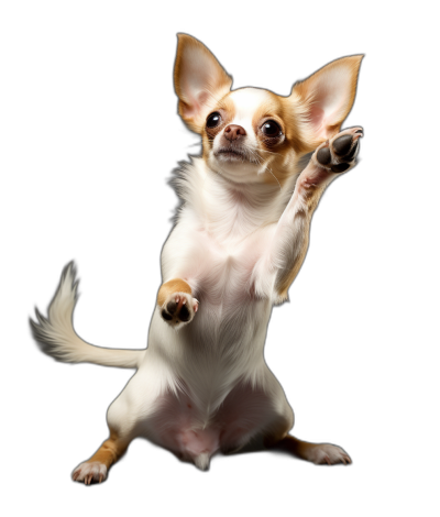
[{"label": "lowered front paw, tan on top, held against the body", "polygon": [[199,301],[193,298],[191,294],[190,286],[182,278],[162,284],[157,293],[157,305],[162,318],[168,324],[180,328],[194,319]]}]

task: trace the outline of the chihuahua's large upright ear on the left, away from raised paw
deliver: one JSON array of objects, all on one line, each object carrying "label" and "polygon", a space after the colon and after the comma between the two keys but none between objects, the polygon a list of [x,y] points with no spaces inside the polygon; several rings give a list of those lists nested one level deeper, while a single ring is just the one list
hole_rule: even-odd
[{"label": "chihuahua's large upright ear on the left, away from raised paw", "polygon": [[230,91],[232,77],[199,41],[186,34],[177,36],[174,87],[178,110],[187,125],[198,132],[217,101]]}]

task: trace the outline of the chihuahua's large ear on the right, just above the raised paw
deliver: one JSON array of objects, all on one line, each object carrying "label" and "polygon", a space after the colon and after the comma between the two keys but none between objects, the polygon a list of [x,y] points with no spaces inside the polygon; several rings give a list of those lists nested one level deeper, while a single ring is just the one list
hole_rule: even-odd
[{"label": "chihuahua's large ear on the right, just above the raised paw", "polygon": [[363,56],[342,57],[297,82],[292,98],[300,105],[302,120],[314,144],[339,132],[356,92],[359,67]]}]

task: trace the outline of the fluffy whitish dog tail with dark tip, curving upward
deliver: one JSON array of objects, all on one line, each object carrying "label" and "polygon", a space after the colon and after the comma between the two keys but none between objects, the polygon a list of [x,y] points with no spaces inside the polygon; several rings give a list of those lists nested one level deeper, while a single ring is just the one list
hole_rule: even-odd
[{"label": "fluffy whitish dog tail with dark tip, curving upward", "polygon": [[76,304],[75,271],[70,262],[64,270],[62,283],[45,319],[36,311],[37,322],[31,320],[32,334],[42,352],[65,363],[95,363],[102,366],[136,369],[144,350],[112,350],[92,346],[75,333],[72,315]]}]

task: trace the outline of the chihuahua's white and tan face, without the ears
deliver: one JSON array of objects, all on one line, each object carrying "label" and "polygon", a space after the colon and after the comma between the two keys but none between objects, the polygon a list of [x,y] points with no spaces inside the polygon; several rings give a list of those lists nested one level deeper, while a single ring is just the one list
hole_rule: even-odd
[{"label": "chihuahua's white and tan face, without the ears", "polygon": [[[283,98],[243,88],[222,97],[201,131],[208,165],[239,183],[280,179],[283,163],[296,160],[297,128]],[[276,170],[274,177],[273,168]]]}]

